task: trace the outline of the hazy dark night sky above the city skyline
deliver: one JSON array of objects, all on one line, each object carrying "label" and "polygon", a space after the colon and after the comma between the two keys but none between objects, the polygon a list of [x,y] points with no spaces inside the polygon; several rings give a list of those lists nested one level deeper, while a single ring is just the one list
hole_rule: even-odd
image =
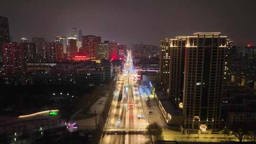
[{"label": "hazy dark night sky above the city skyline", "polygon": [[26,37],[101,36],[132,45],[221,32],[235,45],[256,44],[256,0],[0,0],[12,41]]}]

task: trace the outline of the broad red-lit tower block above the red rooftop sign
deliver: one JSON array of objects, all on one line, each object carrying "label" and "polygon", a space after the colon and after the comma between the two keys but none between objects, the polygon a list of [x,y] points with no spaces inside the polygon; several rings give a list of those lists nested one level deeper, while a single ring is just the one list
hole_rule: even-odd
[{"label": "broad red-lit tower block above the red rooftop sign", "polygon": [[96,48],[101,43],[101,36],[82,36],[82,53],[89,59],[96,58]]}]

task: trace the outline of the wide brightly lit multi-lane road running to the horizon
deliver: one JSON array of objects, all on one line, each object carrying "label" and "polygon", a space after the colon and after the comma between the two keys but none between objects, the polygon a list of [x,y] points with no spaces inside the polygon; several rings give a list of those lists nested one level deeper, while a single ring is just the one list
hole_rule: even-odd
[{"label": "wide brightly lit multi-lane road running to the horizon", "polygon": [[144,118],[143,99],[138,90],[131,53],[128,53],[124,71],[119,74],[117,88],[101,139],[102,144],[144,144],[143,131],[148,125]]}]

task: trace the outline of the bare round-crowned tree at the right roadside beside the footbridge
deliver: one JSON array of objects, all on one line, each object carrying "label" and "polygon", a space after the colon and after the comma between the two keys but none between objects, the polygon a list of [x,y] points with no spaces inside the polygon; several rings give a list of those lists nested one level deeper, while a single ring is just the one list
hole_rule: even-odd
[{"label": "bare round-crowned tree at the right roadside beside the footbridge", "polygon": [[163,128],[158,123],[154,122],[146,127],[145,136],[152,144],[157,144],[162,139]]}]

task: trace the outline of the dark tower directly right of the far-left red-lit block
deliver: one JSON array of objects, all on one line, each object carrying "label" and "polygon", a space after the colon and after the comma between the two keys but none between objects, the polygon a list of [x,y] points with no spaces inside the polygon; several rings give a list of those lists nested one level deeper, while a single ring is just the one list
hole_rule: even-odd
[{"label": "dark tower directly right of the far-left red-lit block", "polygon": [[21,42],[19,45],[23,47],[24,62],[34,63],[36,60],[36,44],[29,42]]}]

